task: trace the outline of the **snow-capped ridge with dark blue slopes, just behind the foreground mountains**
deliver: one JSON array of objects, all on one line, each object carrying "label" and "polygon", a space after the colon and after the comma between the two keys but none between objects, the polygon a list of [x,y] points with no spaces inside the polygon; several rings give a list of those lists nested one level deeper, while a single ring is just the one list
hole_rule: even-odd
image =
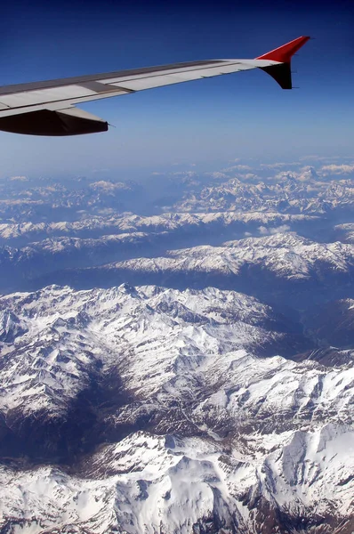
[{"label": "snow-capped ridge with dark blue slopes, just behind the foreground mountains", "polygon": [[353,245],[318,243],[293,232],[280,232],[227,241],[219,247],[166,250],[156,257],[136,255],[122,262],[52,271],[31,283],[32,287],[54,282],[76,288],[124,282],[178,289],[213,286],[302,311],[316,303],[353,298],[353,281]]}]

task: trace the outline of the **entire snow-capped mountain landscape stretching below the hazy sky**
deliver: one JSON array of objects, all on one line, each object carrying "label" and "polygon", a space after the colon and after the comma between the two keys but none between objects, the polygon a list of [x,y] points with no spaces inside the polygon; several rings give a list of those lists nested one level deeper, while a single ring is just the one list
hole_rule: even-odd
[{"label": "entire snow-capped mountain landscape stretching below the hazy sky", "polygon": [[277,165],[0,184],[1,534],[352,534],[354,166]]}]

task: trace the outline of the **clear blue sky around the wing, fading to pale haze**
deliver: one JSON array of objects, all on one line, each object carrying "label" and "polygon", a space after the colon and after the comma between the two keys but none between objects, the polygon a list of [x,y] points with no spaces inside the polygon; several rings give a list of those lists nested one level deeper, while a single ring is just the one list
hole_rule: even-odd
[{"label": "clear blue sky around the wing, fading to pale haze", "polygon": [[261,71],[174,85],[84,109],[107,134],[0,133],[1,176],[149,173],[175,163],[354,156],[354,5],[326,2],[36,2],[0,21],[1,85],[199,59],[253,58],[301,35],[282,91]]}]

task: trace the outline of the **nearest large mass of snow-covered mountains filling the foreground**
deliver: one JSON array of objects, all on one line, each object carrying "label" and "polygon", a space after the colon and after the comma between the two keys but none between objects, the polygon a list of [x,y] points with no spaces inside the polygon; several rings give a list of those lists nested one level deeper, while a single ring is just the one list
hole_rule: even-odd
[{"label": "nearest large mass of snow-covered mountains filling the foreground", "polygon": [[351,532],[354,354],[285,360],[285,318],[212,287],[0,306],[2,531]]}]

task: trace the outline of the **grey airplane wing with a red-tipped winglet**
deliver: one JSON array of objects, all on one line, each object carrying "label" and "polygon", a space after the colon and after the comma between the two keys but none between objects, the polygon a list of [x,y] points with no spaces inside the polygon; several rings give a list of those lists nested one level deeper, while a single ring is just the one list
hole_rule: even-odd
[{"label": "grey airplane wing with a red-tipped winglet", "polygon": [[175,63],[82,77],[0,87],[0,130],[31,135],[106,132],[109,124],[76,104],[180,84],[242,70],[261,69],[283,89],[292,89],[290,61],[310,37],[302,36],[254,60]]}]

